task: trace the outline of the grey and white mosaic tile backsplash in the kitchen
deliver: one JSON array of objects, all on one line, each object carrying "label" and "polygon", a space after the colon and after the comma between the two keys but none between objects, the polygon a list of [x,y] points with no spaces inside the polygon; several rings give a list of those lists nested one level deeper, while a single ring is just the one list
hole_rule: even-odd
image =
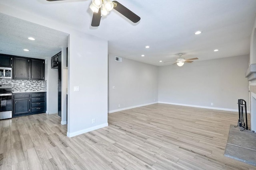
[{"label": "grey and white mosaic tile backsplash in the kitchen", "polygon": [[37,92],[47,90],[46,80],[8,80],[0,79],[0,84],[12,84],[13,92]]}]

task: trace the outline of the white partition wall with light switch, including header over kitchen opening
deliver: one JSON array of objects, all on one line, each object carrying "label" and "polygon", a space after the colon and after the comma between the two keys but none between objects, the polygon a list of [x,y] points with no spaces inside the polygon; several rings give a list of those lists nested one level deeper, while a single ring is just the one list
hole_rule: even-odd
[{"label": "white partition wall with light switch, including header over kitchen opening", "polygon": [[[0,12],[69,34],[67,136],[107,126],[108,42],[77,31],[68,23],[58,23],[10,6],[1,5]],[[80,92],[74,92],[74,86],[79,86]],[[93,118],[95,124],[92,124]]]}]

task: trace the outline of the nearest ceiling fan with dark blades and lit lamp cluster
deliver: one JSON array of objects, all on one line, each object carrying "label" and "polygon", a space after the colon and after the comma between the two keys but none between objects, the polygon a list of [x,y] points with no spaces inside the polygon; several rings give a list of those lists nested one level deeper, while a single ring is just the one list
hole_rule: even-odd
[{"label": "nearest ceiling fan with dark blades and lit lamp cluster", "polygon": [[[59,0],[47,0],[47,1],[59,1]],[[116,10],[132,22],[136,23],[140,21],[140,17],[130,11],[117,1],[110,0],[92,0],[90,9],[93,11],[92,26],[98,27],[100,25],[101,16],[106,16],[112,9]]]}]

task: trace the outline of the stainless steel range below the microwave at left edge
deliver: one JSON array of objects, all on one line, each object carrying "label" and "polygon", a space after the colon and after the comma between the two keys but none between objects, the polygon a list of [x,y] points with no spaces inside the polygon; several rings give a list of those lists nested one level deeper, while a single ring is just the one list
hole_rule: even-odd
[{"label": "stainless steel range below the microwave at left edge", "polygon": [[12,85],[0,84],[0,120],[12,118]]}]

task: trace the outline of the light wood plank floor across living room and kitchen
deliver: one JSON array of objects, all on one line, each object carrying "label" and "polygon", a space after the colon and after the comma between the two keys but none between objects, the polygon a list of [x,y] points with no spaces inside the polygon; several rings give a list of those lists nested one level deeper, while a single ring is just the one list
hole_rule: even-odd
[{"label": "light wood plank floor across living room and kitchen", "polygon": [[154,104],[108,115],[109,126],[66,137],[54,115],[0,121],[0,169],[256,170],[224,157],[238,113]]}]

